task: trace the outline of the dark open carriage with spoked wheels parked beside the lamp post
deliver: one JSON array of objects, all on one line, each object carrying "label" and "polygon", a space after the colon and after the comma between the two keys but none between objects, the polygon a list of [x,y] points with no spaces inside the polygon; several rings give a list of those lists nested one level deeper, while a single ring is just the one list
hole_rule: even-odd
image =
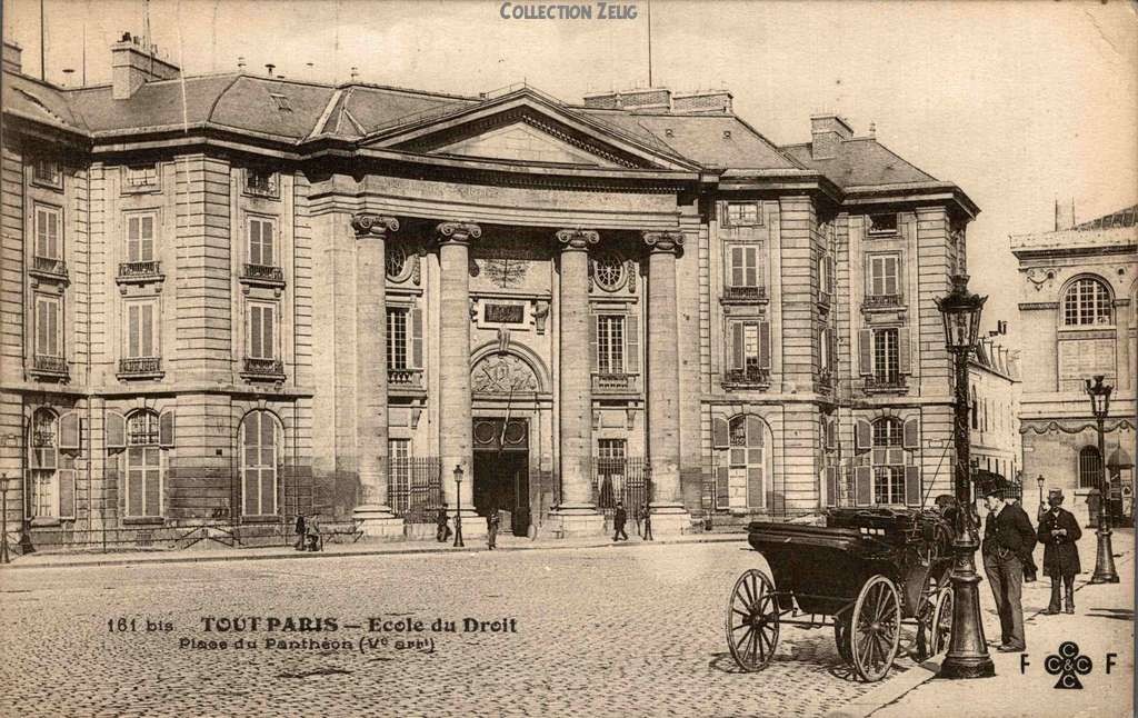
[{"label": "dark open carriage with spoked wheels parked beside the lamp post", "polygon": [[773,577],[750,569],[727,603],[727,645],[740,668],[774,657],[781,625],[834,627],[839,654],[864,680],[897,657],[901,626],[918,659],[946,647],[953,620],[950,517],[939,510],[833,509],[825,526],[757,521],[748,542]]}]

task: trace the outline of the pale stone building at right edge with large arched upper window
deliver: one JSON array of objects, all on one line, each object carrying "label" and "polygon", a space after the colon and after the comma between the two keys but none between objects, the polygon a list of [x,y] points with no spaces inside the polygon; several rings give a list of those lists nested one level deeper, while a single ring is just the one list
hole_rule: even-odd
[{"label": "pale stone building at right edge with large arched upper window", "polygon": [[1086,515],[1103,471],[1085,380],[1114,387],[1105,423],[1112,490],[1132,496],[1138,206],[1082,224],[1056,213],[1053,232],[1012,237],[1020,261],[1023,473],[1062,488]]}]

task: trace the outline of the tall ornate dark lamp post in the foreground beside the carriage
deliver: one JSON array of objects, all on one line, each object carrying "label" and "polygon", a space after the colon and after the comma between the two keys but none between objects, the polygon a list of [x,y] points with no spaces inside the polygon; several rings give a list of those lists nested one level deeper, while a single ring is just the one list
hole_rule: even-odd
[{"label": "tall ornate dark lamp post in the foreground beside the carriage", "polygon": [[941,678],[987,678],[996,675],[980,620],[980,576],[976,575],[975,556],[980,538],[968,476],[968,355],[976,347],[980,313],[987,300],[988,297],[968,292],[966,275],[954,277],[953,290],[947,297],[935,299],[945,320],[945,344],[956,369],[955,489],[962,509],[957,514],[956,539],[953,542],[953,634],[948,655],[940,666]]}]

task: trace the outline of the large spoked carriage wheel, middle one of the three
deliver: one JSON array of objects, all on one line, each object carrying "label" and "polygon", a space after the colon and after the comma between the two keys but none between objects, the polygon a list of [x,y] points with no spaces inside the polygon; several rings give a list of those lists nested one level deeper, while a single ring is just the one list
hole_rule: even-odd
[{"label": "large spoked carriage wheel, middle one of the three", "polygon": [[901,639],[901,599],[893,581],[880,573],[867,580],[851,620],[853,668],[864,680],[881,680],[893,665]]}]

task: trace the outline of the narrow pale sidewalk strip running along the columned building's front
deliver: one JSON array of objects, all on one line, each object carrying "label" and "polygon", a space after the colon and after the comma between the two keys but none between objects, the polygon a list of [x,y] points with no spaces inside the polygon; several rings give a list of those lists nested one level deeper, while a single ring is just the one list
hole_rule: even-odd
[{"label": "narrow pale sidewalk strip running along the columned building's front", "polygon": [[[452,539],[453,540],[453,539]],[[737,542],[747,546],[747,534],[684,534],[669,538],[644,542],[635,534],[630,540],[613,543],[607,536],[588,538],[538,538],[529,539],[512,535],[500,535],[496,551],[534,551],[558,548],[595,548],[601,546],[628,547],[653,544]],[[205,561],[256,561],[266,559],[323,559],[333,556],[402,555],[422,553],[473,553],[486,551],[485,538],[464,542],[455,548],[452,542],[430,540],[369,542],[354,544],[324,544],[319,552],[296,551],[291,546],[266,546],[258,548],[213,547],[205,544],[184,550],[122,551],[122,552],[36,552],[26,556],[14,556],[13,562],[0,566],[0,572],[15,569],[71,568],[91,566],[126,566],[150,563],[197,563]]]}]

